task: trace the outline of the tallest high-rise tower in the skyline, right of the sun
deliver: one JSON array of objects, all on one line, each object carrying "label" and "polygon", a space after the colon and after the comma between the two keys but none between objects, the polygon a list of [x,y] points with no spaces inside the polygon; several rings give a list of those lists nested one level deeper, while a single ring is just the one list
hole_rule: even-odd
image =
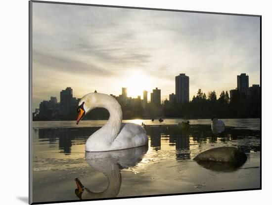
[{"label": "tallest high-rise tower in the skyline, right of the sun", "polygon": [[184,73],[176,76],[176,98],[178,102],[189,102],[189,77]]}]

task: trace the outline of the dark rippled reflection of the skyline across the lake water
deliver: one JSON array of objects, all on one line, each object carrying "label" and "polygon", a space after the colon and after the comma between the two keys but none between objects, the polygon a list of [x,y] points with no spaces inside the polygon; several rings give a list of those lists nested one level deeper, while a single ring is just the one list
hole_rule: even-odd
[{"label": "dark rippled reflection of the skyline across the lake water", "polygon": [[[40,142],[46,141],[49,148],[58,147],[60,153],[69,155],[73,145],[85,144],[88,137],[100,127],[79,127],[79,128],[39,128],[34,129],[34,137],[38,135]],[[242,149],[245,153],[257,152],[261,150],[260,144],[248,143],[244,140],[260,138],[258,130],[234,129],[226,127],[221,134],[213,134],[210,125],[191,125],[189,129],[179,126],[146,126],[147,135],[150,137],[150,147],[154,151],[162,149],[162,138],[168,138],[167,145],[175,146],[177,160],[190,159],[190,146],[192,142],[198,147],[206,143],[227,143],[235,140],[234,146]],[[242,141],[241,141],[242,140]],[[165,145],[164,145],[165,146]]]}]

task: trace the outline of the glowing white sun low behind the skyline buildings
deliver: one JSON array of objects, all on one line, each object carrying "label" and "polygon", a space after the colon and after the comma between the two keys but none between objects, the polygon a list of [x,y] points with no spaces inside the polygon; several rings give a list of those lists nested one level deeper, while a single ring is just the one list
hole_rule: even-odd
[{"label": "glowing white sun low behind the skyline buildings", "polygon": [[127,87],[128,97],[136,98],[140,95],[142,99],[142,91],[151,90],[151,79],[142,72],[133,72],[127,76],[124,85]]}]

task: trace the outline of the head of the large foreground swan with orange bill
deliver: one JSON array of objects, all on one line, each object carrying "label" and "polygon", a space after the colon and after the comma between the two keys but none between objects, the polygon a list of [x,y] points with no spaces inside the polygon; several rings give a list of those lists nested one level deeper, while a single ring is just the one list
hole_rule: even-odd
[{"label": "head of the large foreground swan with orange bill", "polygon": [[98,97],[99,93],[91,92],[84,95],[79,101],[79,107],[77,109],[78,118],[77,124],[84,118],[84,116],[89,113],[94,108],[98,107]]}]

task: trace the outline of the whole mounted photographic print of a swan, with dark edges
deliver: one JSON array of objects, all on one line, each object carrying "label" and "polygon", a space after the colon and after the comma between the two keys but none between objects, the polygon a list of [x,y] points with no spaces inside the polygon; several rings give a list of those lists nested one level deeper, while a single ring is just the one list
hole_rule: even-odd
[{"label": "whole mounted photographic print of a swan, with dark edges", "polygon": [[261,16],[29,5],[30,204],[261,189]]}]

